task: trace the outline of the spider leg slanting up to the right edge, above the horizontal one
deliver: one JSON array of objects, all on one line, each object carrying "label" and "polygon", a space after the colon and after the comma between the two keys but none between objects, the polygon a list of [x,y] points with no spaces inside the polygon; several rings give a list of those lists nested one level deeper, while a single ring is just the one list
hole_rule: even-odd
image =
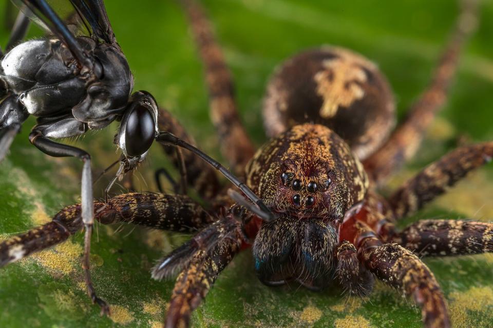
[{"label": "spider leg slanting up to the right edge, above the horizontal one", "polygon": [[421,209],[426,203],[493,158],[493,141],[461,147],[435,161],[407,180],[389,198],[396,219]]}]

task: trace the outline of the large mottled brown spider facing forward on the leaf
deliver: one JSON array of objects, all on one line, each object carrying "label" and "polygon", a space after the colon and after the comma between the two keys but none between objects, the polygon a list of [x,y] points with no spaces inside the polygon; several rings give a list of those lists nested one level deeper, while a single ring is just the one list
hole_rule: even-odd
[{"label": "large mottled brown spider facing forward on the leaf", "polygon": [[[475,25],[475,3],[464,2],[430,86],[393,132],[395,108],[382,73],[361,55],[325,47],[299,53],[274,73],[263,108],[272,139],[256,152],[241,125],[233,81],[210,24],[193,0],[182,4],[204,62],[222,154],[244,172],[247,185],[275,218],[235,192],[229,195],[239,205],[232,202],[214,170],[189,153],[184,154],[186,180],[209,201],[207,209],[183,194],[128,193],[94,203],[96,219],[103,224],[202,229],[153,269],[156,279],[179,272],[165,326],[188,326],[220,272],[252,247],[255,271],[267,285],[294,280],[319,290],[335,280],[349,294],[364,296],[376,277],[411,297],[421,307],[426,327],[449,327],[440,286],[416,254],[492,252],[493,224],[421,220],[402,231],[394,224],[489,162],[493,142],[450,152],[390,197],[378,194],[377,187],[416,153],[443,106],[460,50]],[[189,139],[166,115],[160,113],[163,130]],[[175,156],[171,148],[164,149]],[[176,156],[174,160],[178,165]],[[0,265],[66,240],[83,228],[80,212],[80,204],[66,207],[52,222],[2,242]]]}]

